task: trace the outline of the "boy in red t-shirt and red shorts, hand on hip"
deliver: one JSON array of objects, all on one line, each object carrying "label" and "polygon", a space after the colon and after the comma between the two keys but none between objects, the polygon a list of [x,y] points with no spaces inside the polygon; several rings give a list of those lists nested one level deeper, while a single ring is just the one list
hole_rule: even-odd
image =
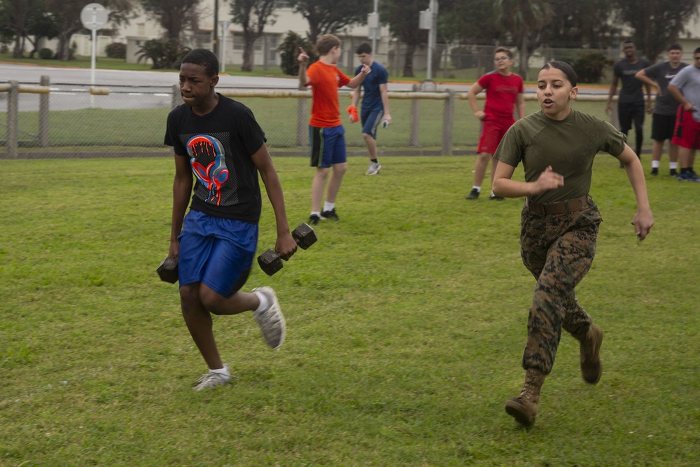
[{"label": "boy in red t-shirt and red shorts, hand on hip", "polygon": [[[474,167],[474,186],[467,195],[468,200],[476,200],[479,197],[486,167],[489,167],[489,159],[491,159],[491,186],[493,186],[493,174],[496,173],[498,164],[498,160],[493,158],[493,153],[496,152],[505,132],[515,123],[513,107],[517,109],[518,118],[525,116],[523,80],[510,71],[513,66],[512,52],[505,47],[497,48],[493,52],[493,63],[496,64],[496,70],[479,78],[467,93],[474,116],[482,121],[477,148],[478,159]],[[477,94],[482,90],[486,90],[486,104],[484,104],[484,110],[480,111],[477,106]],[[503,197],[496,196],[491,191],[491,200],[500,201]]]}]

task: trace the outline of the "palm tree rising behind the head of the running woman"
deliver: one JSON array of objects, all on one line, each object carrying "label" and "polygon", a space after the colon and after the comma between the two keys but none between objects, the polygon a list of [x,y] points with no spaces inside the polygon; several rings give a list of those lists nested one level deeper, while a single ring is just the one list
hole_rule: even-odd
[{"label": "palm tree rising behind the head of the running woman", "polygon": [[528,78],[528,59],[538,44],[540,32],[554,18],[551,0],[494,0],[493,12],[503,32],[519,48],[519,74]]}]

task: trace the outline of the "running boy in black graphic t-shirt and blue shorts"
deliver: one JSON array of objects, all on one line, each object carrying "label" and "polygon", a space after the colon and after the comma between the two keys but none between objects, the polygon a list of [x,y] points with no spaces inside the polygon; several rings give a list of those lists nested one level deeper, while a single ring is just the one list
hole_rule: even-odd
[{"label": "running boy in black graphic t-shirt and blue shorts", "polygon": [[[284,340],[284,316],[272,288],[240,291],[258,243],[258,172],[274,209],[275,251],[288,259],[297,249],[265,134],[250,109],[214,91],[217,83],[216,55],[206,49],[188,53],[180,67],[185,104],[169,113],[165,134],[165,144],[173,146],[175,156],[168,256],[178,258],[182,314],[209,366],[197,391],[232,379],[216,347],[211,313],[253,311],[269,347],[276,349]],[[190,195],[192,204],[185,215]]]}]

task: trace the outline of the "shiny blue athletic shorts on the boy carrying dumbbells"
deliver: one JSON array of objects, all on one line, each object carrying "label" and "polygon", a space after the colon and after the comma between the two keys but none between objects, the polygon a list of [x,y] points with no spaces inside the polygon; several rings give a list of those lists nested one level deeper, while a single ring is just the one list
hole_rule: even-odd
[{"label": "shiny blue athletic shorts on the boy carrying dumbbells", "polygon": [[190,209],[178,239],[180,286],[202,282],[230,297],[248,280],[258,246],[258,225]]}]

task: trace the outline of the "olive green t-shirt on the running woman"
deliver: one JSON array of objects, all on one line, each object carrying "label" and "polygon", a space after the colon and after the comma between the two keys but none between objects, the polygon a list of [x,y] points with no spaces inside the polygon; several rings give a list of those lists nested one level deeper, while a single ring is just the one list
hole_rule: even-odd
[{"label": "olive green t-shirt on the running woman", "polygon": [[560,202],[589,193],[593,158],[598,151],[617,157],[625,139],[610,123],[574,109],[564,120],[553,120],[539,111],[517,120],[493,157],[513,167],[522,162],[526,181],[536,181],[551,165],[563,175],[563,186],[531,199]]}]

